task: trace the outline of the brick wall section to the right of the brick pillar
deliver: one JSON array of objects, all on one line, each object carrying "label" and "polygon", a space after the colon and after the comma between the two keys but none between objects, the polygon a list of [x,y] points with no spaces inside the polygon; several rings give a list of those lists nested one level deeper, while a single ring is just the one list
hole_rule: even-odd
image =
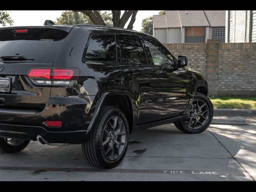
[{"label": "brick wall section to the right of the brick pillar", "polygon": [[218,62],[218,93],[256,93],[256,43],[221,43]]}]

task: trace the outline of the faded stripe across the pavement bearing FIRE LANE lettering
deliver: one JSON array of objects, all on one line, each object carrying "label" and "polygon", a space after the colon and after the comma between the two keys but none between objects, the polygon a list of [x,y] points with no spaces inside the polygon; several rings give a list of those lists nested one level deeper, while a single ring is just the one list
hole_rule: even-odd
[{"label": "faded stripe across the pavement bearing FIRE LANE lettering", "polygon": [[106,173],[145,173],[145,174],[194,174],[194,175],[217,175],[217,176],[246,176],[246,172],[226,172],[212,170],[160,170],[160,169],[97,169],[97,168],[52,168],[52,167],[16,167],[16,166],[0,166],[0,170],[23,170],[34,171],[34,174],[41,172],[106,172]]}]

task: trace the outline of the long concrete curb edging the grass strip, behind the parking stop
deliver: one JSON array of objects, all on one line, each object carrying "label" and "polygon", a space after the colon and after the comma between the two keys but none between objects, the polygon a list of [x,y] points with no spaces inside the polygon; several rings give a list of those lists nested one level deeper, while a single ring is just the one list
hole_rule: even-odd
[{"label": "long concrete curb edging the grass strip, behind the parking stop", "polygon": [[252,109],[214,109],[214,116],[256,116],[256,110]]}]

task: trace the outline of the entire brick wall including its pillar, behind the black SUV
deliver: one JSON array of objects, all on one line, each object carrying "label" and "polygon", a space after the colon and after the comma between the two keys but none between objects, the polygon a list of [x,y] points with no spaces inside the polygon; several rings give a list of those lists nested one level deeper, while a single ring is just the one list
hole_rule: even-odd
[{"label": "entire brick wall including its pillar, behind the black SUV", "polygon": [[256,43],[166,43],[188,57],[188,67],[202,72],[212,95],[256,94]]}]

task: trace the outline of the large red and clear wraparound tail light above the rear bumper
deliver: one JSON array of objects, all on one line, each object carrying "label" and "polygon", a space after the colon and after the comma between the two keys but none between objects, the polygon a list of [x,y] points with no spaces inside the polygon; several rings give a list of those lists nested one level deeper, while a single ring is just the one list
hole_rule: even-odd
[{"label": "large red and clear wraparound tail light above the rear bumper", "polygon": [[79,76],[79,69],[32,68],[27,76],[37,85],[72,86]]}]

